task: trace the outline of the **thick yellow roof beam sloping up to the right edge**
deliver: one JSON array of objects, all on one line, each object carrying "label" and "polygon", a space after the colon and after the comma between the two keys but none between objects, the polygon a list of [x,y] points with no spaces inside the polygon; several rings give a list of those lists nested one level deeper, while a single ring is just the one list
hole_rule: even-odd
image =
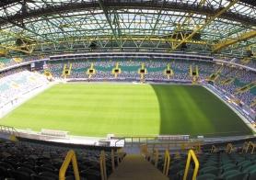
[{"label": "thick yellow roof beam sloping up to the right edge", "polygon": [[245,33],[239,35],[235,39],[224,39],[213,46],[213,51],[220,51],[224,48],[227,48],[228,46],[230,46],[232,44],[236,44],[243,40],[252,39],[254,37],[256,37],[256,30],[251,30],[249,32],[245,32]]}]

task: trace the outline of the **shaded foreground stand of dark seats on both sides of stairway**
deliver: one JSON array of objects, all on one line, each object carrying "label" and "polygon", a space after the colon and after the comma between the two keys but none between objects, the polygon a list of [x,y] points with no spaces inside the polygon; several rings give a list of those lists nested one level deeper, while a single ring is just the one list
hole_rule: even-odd
[{"label": "shaded foreground stand of dark seats on both sides of stairway", "polygon": [[[255,138],[246,141],[230,141],[229,143],[210,143],[200,145],[200,148],[192,145],[192,149],[188,146],[189,149],[176,150],[175,152],[165,149],[153,149],[150,152],[146,144],[141,147],[145,159],[153,163],[169,179],[184,179],[186,169],[188,174],[186,174],[187,178],[185,179],[193,179],[194,174],[196,179],[199,180],[253,180],[256,177]],[[29,139],[20,139],[20,141],[15,142],[1,140],[0,178],[21,180],[58,179],[60,169],[64,164],[64,158],[71,148],[76,152],[78,172],[81,179],[102,179],[102,172],[100,172],[100,154],[102,154],[102,150],[105,153],[106,174],[110,179],[125,178],[125,175],[131,178],[138,174],[146,177],[146,169],[151,169],[151,175],[156,175],[155,177],[158,177],[158,179],[165,179],[164,175],[155,172],[153,165],[151,167],[136,155],[125,156],[123,152],[119,151],[121,149],[72,146]],[[114,156],[112,156],[113,152],[115,152]],[[192,159],[189,158],[191,155]],[[114,157],[114,160],[112,160],[112,157]],[[124,161],[122,162],[123,158]],[[194,163],[191,163],[192,161]],[[117,165],[121,165],[115,169],[113,164],[115,168]],[[138,168],[141,170],[138,174],[131,174],[131,170],[139,164],[141,166]],[[133,172],[136,171],[134,169]],[[75,179],[75,175],[72,166],[69,165],[65,173],[65,179]]]}]

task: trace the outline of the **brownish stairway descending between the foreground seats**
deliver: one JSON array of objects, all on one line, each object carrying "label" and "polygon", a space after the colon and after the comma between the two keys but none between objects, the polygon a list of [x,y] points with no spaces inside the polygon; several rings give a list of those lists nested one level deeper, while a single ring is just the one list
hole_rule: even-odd
[{"label": "brownish stairway descending between the foreground seats", "polygon": [[162,174],[153,164],[147,162],[142,155],[126,155],[122,163],[111,174],[109,180],[167,180],[167,176]]}]

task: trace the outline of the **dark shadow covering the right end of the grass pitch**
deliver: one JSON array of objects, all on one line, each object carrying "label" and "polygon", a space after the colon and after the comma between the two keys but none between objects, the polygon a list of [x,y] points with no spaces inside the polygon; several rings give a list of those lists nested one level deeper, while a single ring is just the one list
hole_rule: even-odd
[{"label": "dark shadow covering the right end of the grass pitch", "polygon": [[[167,87],[168,86],[168,87]],[[185,110],[182,110],[178,102],[182,101],[177,99],[177,96],[180,96],[182,92],[186,92],[187,96],[192,97],[194,103],[200,105],[202,103],[203,95],[196,95],[192,91],[197,91],[198,89],[192,88],[188,89],[187,86],[183,85],[169,85],[169,84],[151,84],[151,87],[154,89],[155,94],[157,96],[158,106],[159,106],[159,114],[160,114],[160,125],[159,125],[159,134],[161,135],[201,135],[202,133],[197,131],[192,131],[195,126],[199,126],[196,124],[195,120],[190,116]],[[208,92],[210,93],[210,92]],[[204,99],[206,96],[210,96],[207,93],[204,93]],[[186,97],[184,97],[186,98]],[[222,136],[241,136],[241,135],[251,135],[252,131],[247,127],[245,123],[231,110],[227,105],[222,102],[219,102],[217,97],[212,97],[212,105],[211,108],[208,106],[199,106],[200,109],[203,110],[206,118],[211,119],[213,125],[213,133],[205,132],[202,135],[204,137],[222,137]],[[186,103],[184,99],[183,103]],[[184,107],[184,105],[183,105]],[[213,108],[212,108],[213,107]],[[190,109],[190,107],[186,107],[186,109]],[[214,110],[213,110],[214,109]],[[218,112],[215,112],[215,109],[218,109]],[[219,116],[220,113],[222,116]],[[233,120],[227,120],[233,119]],[[197,129],[197,128],[195,128]],[[212,131],[212,130],[211,130]]]}]

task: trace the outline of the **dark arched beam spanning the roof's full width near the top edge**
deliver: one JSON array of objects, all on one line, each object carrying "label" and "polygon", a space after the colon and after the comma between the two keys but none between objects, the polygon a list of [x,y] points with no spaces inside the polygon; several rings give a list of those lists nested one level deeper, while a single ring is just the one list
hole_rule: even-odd
[{"label": "dark arched beam spanning the roof's full width near the top edge", "polygon": [[[2,2],[3,0],[0,0]],[[6,0],[10,1],[10,0]],[[67,1],[67,0],[66,0]],[[102,1],[102,0],[101,0]],[[195,1],[195,0],[193,0]],[[232,0],[230,0],[232,1]],[[253,0],[252,0],[253,1]],[[48,2],[48,1],[47,1]],[[210,6],[212,0],[205,1],[205,6],[191,6],[187,2],[183,1],[166,1],[165,5],[162,6],[162,1],[152,0],[152,1],[144,1],[144,0],[138,0],[138,1],[131,1],[131,3],[128,3],[130,1],[123,1],[123,0],[115,0],[115,1],[107,1],[104,0],[104,5],[107,5],[108,7],[119,9],[119,8],[129,8],[129,9],[151,9],[151,10],[159,10],[163,9],[166,11],[178,11],[178,12],[186,12],[186,13],[196,13],[199,15],[204,16],[213,16],[215,15],[215,12],[217,9],[212,8]],[[215,0],[216,2],[216,0]],[[218,0],[218,2],[222,2],[221,0]],[[27,13],[21,13],[20,15],[9,15],[6,17],[6,19],[10,19],[13,22],[21,21],[22,19],[34,19],[35,17],[41,17],[42,15],[52,15],[52,14],[64,14],[65,12],[77,12],[77,11],[90,11],[95,8],[99,8],[99,2],[96,0],[93,1],[75,1],[75,0],[69,0],[66,3],[62,3],[61,5],[50,5],[50,2],[47,3],[49,6],[41,6],[41,8],[31,8]],[[224,19],[228,19],[230,21],[236,21],[240,22],[242,24],[245,24],[246,26],[255,26],[256,19],[253,17],[249,17],[247,15],[241,15],[238,12],[225,12],[220,17]],[[7,24],[6,21],[0,20],[0,25]]]}]

